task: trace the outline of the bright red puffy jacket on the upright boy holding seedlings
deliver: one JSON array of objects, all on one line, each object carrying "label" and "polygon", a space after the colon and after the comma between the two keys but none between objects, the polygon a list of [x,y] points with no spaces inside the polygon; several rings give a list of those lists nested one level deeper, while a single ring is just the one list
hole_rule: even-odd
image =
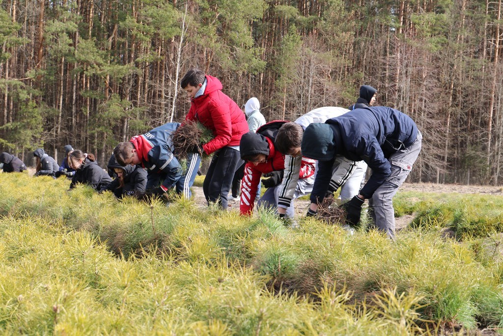
[{"label": "bright red puffy jacket on the upright boy holding seedlings", "polygon": [[206,75],[204,94],[193,98],[185,120],[201,122],[211,129],[215,138],[203,145],[207,154],[225,146],[238,146],[241,136],[248,131],[248,123],[239,106],[225,95],[222,83]]}]

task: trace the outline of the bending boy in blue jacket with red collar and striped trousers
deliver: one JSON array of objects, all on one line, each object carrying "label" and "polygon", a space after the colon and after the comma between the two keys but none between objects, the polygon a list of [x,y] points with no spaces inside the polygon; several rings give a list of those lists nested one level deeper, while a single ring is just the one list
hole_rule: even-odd
[{"label": "bending boy in blue jacket with red collar and striped trousers", "polygon": [[134,136],[129,142],[119,143],[114,148],[114,156],[119,165],[141,165],[147,170],[146,194],[162,196],[175,187],[178,194],[191,197],[190,187],[194,184],[201,157],[190,153],[187,157],[187,171],[184,173],[176,156],[171,140],[172,133],[180,126],[169,122],[143,135]]}]

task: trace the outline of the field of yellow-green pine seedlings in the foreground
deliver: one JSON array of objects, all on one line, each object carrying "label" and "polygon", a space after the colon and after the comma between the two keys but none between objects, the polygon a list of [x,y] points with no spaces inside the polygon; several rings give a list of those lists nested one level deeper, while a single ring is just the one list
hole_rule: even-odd
[{"label": "field of yellow-green pine seedlings in the foreground", "polygon": [[503,327],[503,197],[398,193],[395,241],[266,211],[0,174],[6,334],[390,335]]}]

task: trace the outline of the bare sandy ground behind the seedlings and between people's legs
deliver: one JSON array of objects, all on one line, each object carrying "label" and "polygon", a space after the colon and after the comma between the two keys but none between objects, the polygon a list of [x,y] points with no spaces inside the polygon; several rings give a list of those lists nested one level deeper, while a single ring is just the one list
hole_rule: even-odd
[{"label": "bare sandy ground behind the seedlings and between people's legs", "polygon": [[[206,200],[203,193],[203,188],[200,186],[192,187],[195,197],[195,203],[199,208],[206,207]],[[399,189],[399,192],[416,191],[430,193],[474,193],[474,194],[491,194],[503,195],[502,186],[490,185],[461,185],[461,184],[436,184],[436,183],[404,183]],[[305,198],[305,197],[304,197]],[[310,201],[308,199],[296,199],[294,201],[295,217],[302,217],[306,214]],[[239,199],[229,200],[229,210],[239,211]],[[405,228],[415,215],[405,215],[395,219],[396,230]]]}]

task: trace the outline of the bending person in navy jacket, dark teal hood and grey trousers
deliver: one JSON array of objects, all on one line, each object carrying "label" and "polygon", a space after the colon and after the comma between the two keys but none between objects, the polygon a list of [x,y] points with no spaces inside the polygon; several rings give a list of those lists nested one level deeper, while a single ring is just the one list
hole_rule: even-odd
[{"label": "bending person in navy jacket, dark teal hood and grey trousers", "polygon": [[422,139],[408,115],[384,106],[358,108],[325,123],[310,124],[304,131],[301,151],[319,162],[309,210],[315,213],[321,204],[338,155],[364,160],[372,174],[360,193],[342,206],[347,212],[346,223],[358,224],[368,199],[373,225],[394,238],[392,198],[421,152]]}]

